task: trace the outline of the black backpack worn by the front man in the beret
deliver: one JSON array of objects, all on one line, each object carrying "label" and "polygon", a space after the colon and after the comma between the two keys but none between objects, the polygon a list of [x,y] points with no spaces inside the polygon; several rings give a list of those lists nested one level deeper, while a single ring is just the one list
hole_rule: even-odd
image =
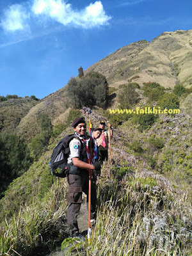
[{"label": "black backpack worn by the front man in the beret", "polygon": [[80,142],[81,140],[74,134],[70,134],[61,139],[51,155],[50,170],[52,175],[57,177],[65,178],[68,174],[70,166],[72,164],[67,164],[69,150],[69,143],[73,138],[77,138]]}]

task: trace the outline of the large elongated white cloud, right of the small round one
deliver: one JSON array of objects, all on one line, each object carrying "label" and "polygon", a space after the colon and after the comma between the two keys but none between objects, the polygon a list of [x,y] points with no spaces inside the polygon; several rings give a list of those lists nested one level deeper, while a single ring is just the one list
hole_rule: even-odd
[{"label": "large elongated white cloud, right of the small round one", "polygon": [[44,15],[64,26],[71,24],[82,28],[92,28],[108,24],[108,20],[111,19],[104,12],[100,1],[91,3],[84,10],[76,11],[72,9],[71,4],[62,0],[34,0],[31,10],[36,15]]}]

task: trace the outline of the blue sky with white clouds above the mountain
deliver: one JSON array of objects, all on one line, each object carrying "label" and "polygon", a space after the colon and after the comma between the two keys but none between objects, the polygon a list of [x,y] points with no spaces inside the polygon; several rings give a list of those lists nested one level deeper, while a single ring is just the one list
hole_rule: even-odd
[{"label": "blue sky with white clouds above the mountain", "polygon": [[192,29],[191,0],[0,0],[0,95],[59,90],[117,49]]}]

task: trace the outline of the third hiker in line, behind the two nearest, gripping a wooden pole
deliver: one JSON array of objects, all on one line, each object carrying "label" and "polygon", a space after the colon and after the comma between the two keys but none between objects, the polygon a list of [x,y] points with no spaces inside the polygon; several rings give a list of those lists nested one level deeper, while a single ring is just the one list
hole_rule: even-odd
[{"label": "third hiker in line, behind the two nearest, gripping a wooden pole", "polygon": [[108,139],[109,136],[113,137],[113,130],[111,128],[111,125],[108,124],[109,131],[105,130],[106,122],[104,120],[99,121],[99,128],[102,129],[101,136],[97,139],[97,145],[99,148],[99,154],[100,154],[100,162],[103,163],[103,161],[108,160]]}]

